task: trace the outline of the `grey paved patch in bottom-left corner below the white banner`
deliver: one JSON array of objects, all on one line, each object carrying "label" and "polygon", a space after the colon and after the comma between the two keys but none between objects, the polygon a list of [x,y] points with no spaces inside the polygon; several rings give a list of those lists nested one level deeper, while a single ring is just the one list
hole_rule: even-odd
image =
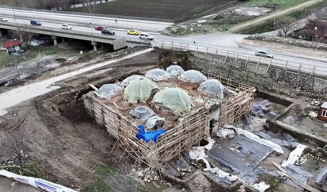
[{"label": "grey paved patch in bottom-left corner below the white banner", "polygon": [[40,192],[35,187],[19,184],[16,186],[11,186],[13,181],[8,179],[7,177],[0,176],[0,191],[1,192]]}]

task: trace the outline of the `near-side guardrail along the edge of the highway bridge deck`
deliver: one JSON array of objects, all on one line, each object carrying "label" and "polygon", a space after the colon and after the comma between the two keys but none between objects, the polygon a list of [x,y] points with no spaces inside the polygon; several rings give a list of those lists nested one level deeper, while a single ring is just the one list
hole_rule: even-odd
[{"label": "near-side guardrail along the edge of the highway bridge deck", "polygon": [[[137,42],[137,43],[143,43],[143,44],[149,44],[149,40],[139,39],[139,38],[129,38],[124,36],[116,36],[116,35],[105,35],[102,33],[91,33],[91,32],[82,32],[82,31],[71,31],[67,29],[57,29],[57,28],[50,28],[50,27],[43,27],[43,26],[33,26],[33,25],[26,25],[26,24],[15,24],[11,22],[2,22],[0,25],[7,25],[7,26],[15,26],[15,27],[21,27],[26,29],[31,29],[31,32],[33,33],[33,30],[43,30],[43,31],[49,31],[49,32],[60,32],[65,34],[74,34],[74,35],[82,35],[82,36],[88,36],[90,38],[92,37],[98,37],[103,39],[119,39],[119,38],[125,38],[127,41],[130,42]],[[90,39],[92,40],[92,39]]]}]

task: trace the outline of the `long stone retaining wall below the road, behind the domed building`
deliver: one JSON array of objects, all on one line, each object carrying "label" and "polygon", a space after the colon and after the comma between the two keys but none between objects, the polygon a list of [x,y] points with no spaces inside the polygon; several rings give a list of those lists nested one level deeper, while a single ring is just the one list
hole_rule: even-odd
[{"label": "long stone retaining wall below the road, behind the domed building", "polygon": [[[275,68],[258,63],[235,60],[235,58],[221,58],[214,55],[197,53],[191,56],[193,67],[213,74],[220,74],[259,88],[285,92],[290,85],[300,87],[303,91],[317,94],[327,93],[327,80],[310,75]],[[283,85],[284,84],[284,85]]]}]

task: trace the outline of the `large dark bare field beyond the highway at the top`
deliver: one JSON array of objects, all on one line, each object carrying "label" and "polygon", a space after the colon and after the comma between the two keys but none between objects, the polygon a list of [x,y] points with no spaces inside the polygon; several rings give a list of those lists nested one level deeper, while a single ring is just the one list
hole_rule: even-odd
[{"label": "large dark bare field beyond the highway at the top", "polygon": [[[97,13],[180,19],[188,18],[196,14],[201,14],[211,9],[216,8],[215,11],[219,11],[235,5],[230,4],[222,6],[230,2],[230,0],[118,0],[114,2],[99,4]],[[73,11],[84,12],[83,8],[75,8]]]}]

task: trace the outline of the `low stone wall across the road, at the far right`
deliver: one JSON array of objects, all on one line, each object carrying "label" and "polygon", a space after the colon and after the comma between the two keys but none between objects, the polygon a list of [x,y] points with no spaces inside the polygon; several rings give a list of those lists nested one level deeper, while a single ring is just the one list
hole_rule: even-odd
[{"label": "low stone wall across the road, at the far right", "polygon": [[327,50],[327,44],[322,44],[321,42],[314,42],[314,41],[308,41],[303,39],[293,39],[293,38],[277,37],[277,36],[262,35],[262,34],[255,34],[250,36],[249,38],[256,39],[256,40],[265,40],[270,42],[282,42],[285,44],[297,45],[301,47]]}]

